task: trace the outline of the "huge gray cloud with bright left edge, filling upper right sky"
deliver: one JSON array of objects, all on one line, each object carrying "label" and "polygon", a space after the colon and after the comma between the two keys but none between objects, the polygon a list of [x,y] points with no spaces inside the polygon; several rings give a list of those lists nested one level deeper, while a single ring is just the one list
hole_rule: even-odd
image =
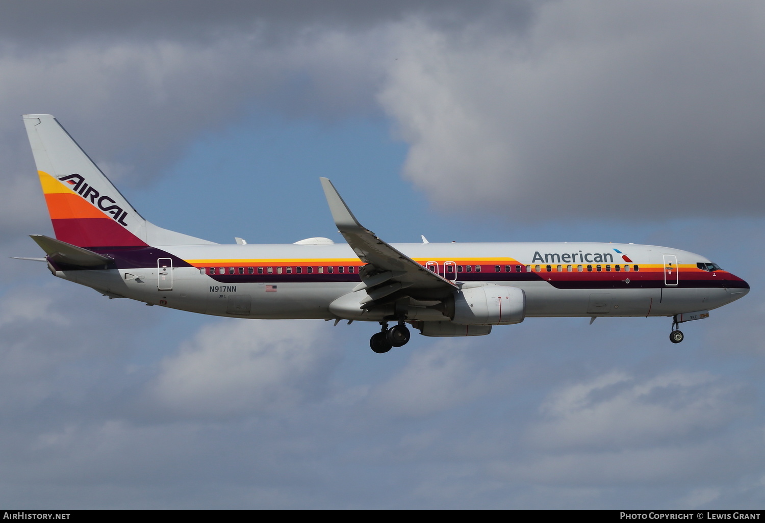
[{"label": "huge gray cloud with bright left edge, filling upper right sky", "polygon": [[441,209],[760,214],[760,5],[555,2],[526,34],[399,27],[381,102]]}]

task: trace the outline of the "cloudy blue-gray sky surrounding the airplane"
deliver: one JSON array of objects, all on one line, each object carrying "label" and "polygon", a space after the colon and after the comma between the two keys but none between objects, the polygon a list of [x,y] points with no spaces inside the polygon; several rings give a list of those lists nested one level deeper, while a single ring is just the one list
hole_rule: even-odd
[{"label": "cloudy blue-gray sky surrounding the airplane", "polygon": [[[0,504],[758,508],[762,2],[0,8]],[[200,317],[50,276],[21,123],[52,113],[160,226],[698,252],[743,300],[475,339]]]}]

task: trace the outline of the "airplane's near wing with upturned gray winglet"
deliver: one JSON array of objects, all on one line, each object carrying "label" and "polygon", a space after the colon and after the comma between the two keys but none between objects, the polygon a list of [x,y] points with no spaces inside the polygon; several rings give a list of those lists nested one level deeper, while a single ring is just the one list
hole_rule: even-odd
[{"label": "airplane's near wing with upturned gray winglet", "polygon": [[454,282],[428,271],[363,227],[330,180],[321,178],[321,186],[324,187],[337,230],[360,260],[372,266],[366,265],[360,273],[361,283],[353,289],[367,289],[368,297],[362,300],[362,304],[400,295],[399,291],[415,299],[435,299],[446,297],[458,288]]}]

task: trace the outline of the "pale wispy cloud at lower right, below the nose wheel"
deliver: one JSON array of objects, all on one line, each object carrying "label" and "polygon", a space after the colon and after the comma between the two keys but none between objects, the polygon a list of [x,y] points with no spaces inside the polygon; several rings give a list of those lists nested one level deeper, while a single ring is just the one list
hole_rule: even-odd
[{"label": "pale wispy cloud at lower right, below the nose wheel", "polygon": [[614,371],[551,394],[528,440],[549,449],[653,447],[723,427],[746,411],[741,400],[741,388],[704,372],[639,380]]}]

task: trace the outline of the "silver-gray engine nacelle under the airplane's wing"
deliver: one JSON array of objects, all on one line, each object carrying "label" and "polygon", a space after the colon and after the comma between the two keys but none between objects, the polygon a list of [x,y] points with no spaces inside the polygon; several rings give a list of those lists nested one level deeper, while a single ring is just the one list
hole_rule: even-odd
[{"label": "silver-gray engine nacelle under the airplane's wing", "polygon": [[454,323],[512,325],[526,316],[526,293],[518,287],[481,284],[454,291]]}]

